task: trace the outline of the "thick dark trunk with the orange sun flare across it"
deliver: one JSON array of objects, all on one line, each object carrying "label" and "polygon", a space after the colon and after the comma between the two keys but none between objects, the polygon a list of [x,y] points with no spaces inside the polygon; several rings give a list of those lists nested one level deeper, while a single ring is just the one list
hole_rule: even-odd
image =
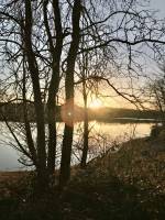
[{"label": "thick dark trunk with the orange sun flare across it", "polygon": [[69,125],[65,123],[64,140],[62,148],[62,161],[61,161],[61,175],[59,186],[63,188],[70,178],[70,157],[72,157],[72,145],[73,145],[73,133],[74,133],[74,69],[77,57],[77,51],[80,38],[80,20],[81,12],[81,0],[75,0],[73,8],[73,34],[72,44],[67,56],[67,69],[65,77],[65,94],[66,105],[69,106],[68,117],[70,117]]}]

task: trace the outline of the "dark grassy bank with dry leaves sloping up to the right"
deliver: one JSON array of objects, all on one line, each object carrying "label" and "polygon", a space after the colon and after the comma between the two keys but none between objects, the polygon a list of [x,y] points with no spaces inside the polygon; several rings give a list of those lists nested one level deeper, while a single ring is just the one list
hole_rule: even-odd
[{"label": "dark grassy bank with dry leaves sloping up to the right", "polygon": [[55,188],[42,201],[32,198],[32,173],[1,173],[0,219],[164,219],[164,145],[163,140],[129,141],[87,169],[74,169],[63,194]]}]

